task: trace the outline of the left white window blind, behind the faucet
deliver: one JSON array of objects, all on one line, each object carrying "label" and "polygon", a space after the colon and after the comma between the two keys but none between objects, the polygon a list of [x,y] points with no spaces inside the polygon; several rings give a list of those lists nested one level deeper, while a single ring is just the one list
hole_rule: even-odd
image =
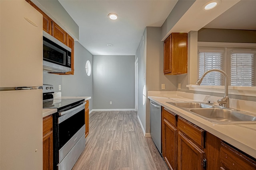
[{"label": "left white window blind, behind the faucet", "polygon": [[[202,77],[204,72],[211,69],[223,70],[224,50],[199,50],[199,78]],[[201,85],[216,85],[223,84],[223,76],[219,72],[210,72],[206,74]]]}]

